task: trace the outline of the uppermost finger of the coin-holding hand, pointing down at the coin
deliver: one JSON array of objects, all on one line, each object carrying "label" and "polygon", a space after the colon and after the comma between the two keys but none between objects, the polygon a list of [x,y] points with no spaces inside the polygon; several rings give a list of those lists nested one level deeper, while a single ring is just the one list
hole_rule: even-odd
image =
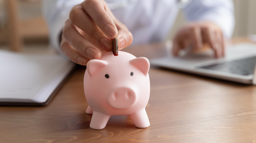
[{"label": "uppermost finger of the coin-holding hand, pointing down at the coin", "polygon": [[83,3],[84,11],[108,38],[113,39],[117,37],[117,27],[106,12],[106,8],[105,1],[86,0]]}]

